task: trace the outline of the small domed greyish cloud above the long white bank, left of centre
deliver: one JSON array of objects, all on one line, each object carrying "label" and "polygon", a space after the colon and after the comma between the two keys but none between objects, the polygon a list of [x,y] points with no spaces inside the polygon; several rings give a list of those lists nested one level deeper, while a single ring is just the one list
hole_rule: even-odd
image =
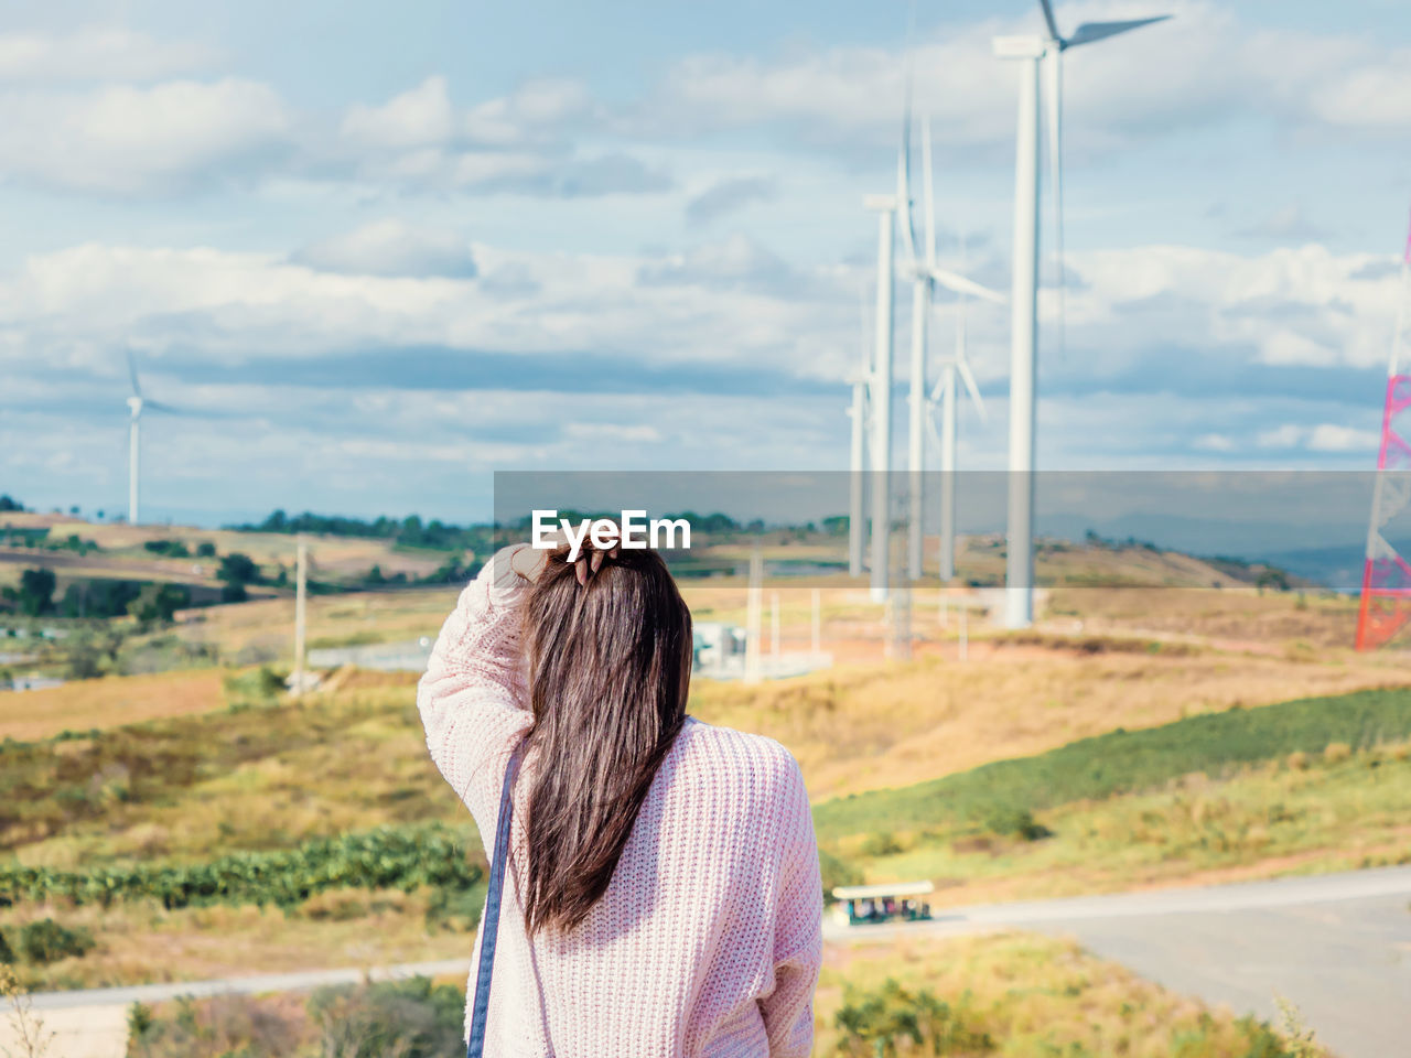
[{"label": "small domed greyish cloud above the long white bank, left of centre", "polygon": [[326,272],[350,275],[420,276],[476,275],[470,241],[454,231],[412,229],[387,219],[312,243],[291,260]]}]

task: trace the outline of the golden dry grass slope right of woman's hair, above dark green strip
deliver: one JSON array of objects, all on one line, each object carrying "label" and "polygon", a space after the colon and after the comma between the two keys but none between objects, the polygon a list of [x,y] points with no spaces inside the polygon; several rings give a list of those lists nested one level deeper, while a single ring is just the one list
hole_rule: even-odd
[{"label": "golden dry grass slope right of woman's hair, above dark green strip", "polygon": [[809,776],[814,800],[1026,756],[1088,735],[1168,724],[1232,705],[1411,684],[1390,655],[1331,660],[1218,650],[975,643],[964,663],[832,669],[741,687],[697,684],[706,721],[777,738]]}]

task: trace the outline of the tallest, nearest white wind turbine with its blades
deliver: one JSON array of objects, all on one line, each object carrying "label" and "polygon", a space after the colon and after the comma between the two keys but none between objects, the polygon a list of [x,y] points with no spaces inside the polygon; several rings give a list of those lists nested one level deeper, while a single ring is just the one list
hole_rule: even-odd
[{"label": "tallest, nearest white wind turbine with its blades", "polygon": [[[1019,134],[1015,155],[1015,278],[1010,299],[1009,364],[1009,557],[1005,568],[1005,625],[1027,628],[1034,600],[1034,374],[1038,358],[1038,66],[1048,72],[1048,135],[1055,202],[1061,203],[1062,52],[1160,23],[1170,16],[1119,23],[1084,23],[1071,37],[1058,32],[1050,0],[1043,6],[1047,34],[996,37],[995,55],[1019,61]],[[1061,217],[1058,230],[1062,229]],[[1062,238],[1058,240],[1060,255]],[[1060,275],[1062,262],[1060,260]]]}]

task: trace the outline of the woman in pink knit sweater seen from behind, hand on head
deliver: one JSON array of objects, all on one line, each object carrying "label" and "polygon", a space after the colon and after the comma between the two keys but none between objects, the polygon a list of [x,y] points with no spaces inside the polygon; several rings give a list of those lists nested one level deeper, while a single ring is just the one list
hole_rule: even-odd
[{"label": "woman in pink knit sweater seen from behind, hand on head", "polygon": [[487,1055],[809,1054],[823,887],[803,777],[777,742],[687,717],[690,664],[690,611],[650,550],[507,547],[442,628],[418,707],[487,855],[522,762]]}]

